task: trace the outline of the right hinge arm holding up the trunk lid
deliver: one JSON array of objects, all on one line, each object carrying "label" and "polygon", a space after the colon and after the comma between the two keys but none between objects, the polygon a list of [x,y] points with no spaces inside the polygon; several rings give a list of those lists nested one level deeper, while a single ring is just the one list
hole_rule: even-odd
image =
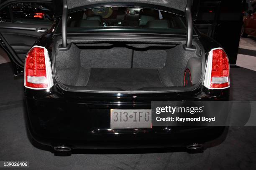
[{"label": "right hinge arm holding up the trunk lid", "polygon": [[193,22],[191,15],[191,6],[193,4],[193,0],[187,0],[187,6],[185,10],[186,22],[187,22],[187,42],[186,45],[183,45],[185,50],[195,51],[195,47],[192,45],[193,40]]}]

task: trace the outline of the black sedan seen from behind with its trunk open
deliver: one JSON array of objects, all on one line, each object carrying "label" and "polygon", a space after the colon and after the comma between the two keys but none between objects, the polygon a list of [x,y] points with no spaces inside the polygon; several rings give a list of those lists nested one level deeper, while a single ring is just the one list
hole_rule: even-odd
[{"label": "black sedan seen from behind with its trunk open", "polygon": [[[202,145],[223,127],[154,126],[151,101],[228,100],[220,45],[192,25],[191,0],[64,0],[25,60],[28,128],[56,151]],[[125,17],[137,8],[136,22]],[[122,12],[123,11],[123,12]],[[139,113],[145,115],[134,121]]]}]

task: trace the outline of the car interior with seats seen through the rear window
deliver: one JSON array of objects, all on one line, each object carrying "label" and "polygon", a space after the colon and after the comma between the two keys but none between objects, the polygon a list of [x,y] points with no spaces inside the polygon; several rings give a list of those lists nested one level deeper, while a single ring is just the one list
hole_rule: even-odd
[{"label": "car interior with seats seen through the rear window", "polygon": [[102,7],[78,11],[69,15],[67,26],[69,28],[186,28],[183,18],[178,15],[139,7]]}]

